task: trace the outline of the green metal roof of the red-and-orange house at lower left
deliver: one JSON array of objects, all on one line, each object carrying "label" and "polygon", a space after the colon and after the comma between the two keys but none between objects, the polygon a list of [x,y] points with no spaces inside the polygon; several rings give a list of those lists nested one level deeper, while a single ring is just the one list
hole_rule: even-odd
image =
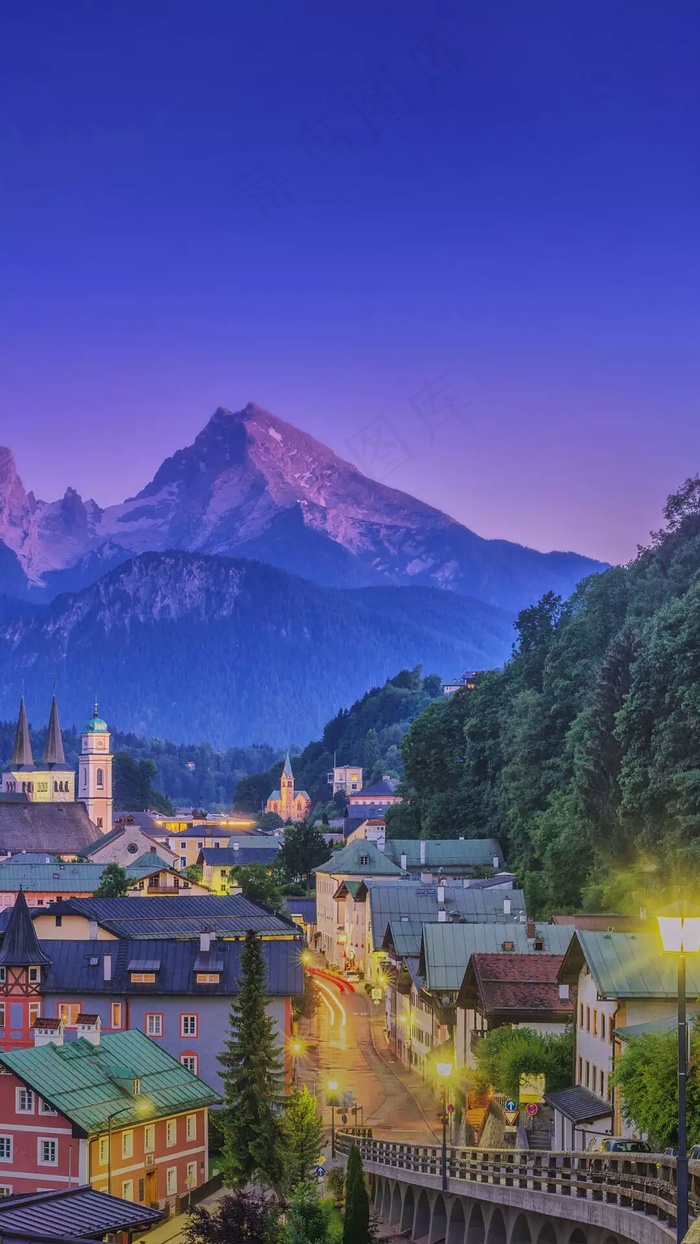
[{"label": "green metal roof of the red-and-orange house at lower left", "polygon": [[[117,1126],[164,1118],[220,1101],[199,1076],[138,1029],[108,1033],[99,1045],[85,1037],[56,1045],[0,1054],[0,1062],[34,1088],[55,1110],[94,1136],[119,1111]],[[139,1081],[139,1095],[129,1091]],[[148,1111],[139,1111],[139,1105]],[[121,1113],[123,1111],[123,1113]]]}]

